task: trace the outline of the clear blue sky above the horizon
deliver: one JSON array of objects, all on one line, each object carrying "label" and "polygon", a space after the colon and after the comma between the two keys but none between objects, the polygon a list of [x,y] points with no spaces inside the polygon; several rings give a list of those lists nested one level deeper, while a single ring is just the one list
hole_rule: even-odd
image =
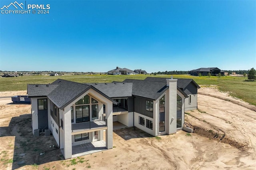
[{"label": "clear blue sky above the horizon", "polygon": [[[1,0],[0,8],[11,2],[15,0]],[[26,4],[50,4],[49,14],[0,14],[2,71],[106,72],[118,66],[151,73],[256,67],[254,0]]]}]

